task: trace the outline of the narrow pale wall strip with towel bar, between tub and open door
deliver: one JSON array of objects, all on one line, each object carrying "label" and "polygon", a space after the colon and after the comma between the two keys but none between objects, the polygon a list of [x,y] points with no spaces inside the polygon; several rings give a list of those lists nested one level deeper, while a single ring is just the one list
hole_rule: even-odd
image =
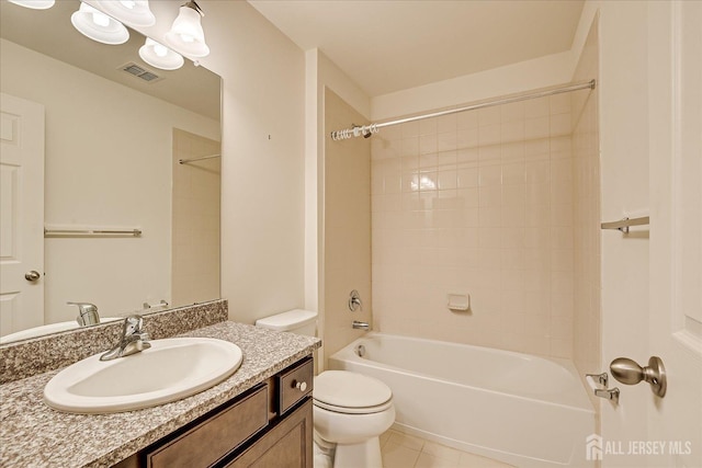
[{"label": "narrow pale wall strip with towel bar, between tub and open door", "polygon": [[[588,2],[584,21],[599,11],[600,42],[600,221],[635,216],[648,198],[647,2]],[[589,14],[589,16],[588,16]],[[589,30],[589,24],[586,30]],[[646,362],[648,356],[648,247],[645,237],[602,231],[601,363],[615,357]],[[613,384],[614,385],[614,384]],[[647,440],[650,392],[621,386],[619,406],[602,400],[605,440]],[[643,389],[637,389],[643,390]],[[602,466],[648,465],[644,456],[609,457]]]}]

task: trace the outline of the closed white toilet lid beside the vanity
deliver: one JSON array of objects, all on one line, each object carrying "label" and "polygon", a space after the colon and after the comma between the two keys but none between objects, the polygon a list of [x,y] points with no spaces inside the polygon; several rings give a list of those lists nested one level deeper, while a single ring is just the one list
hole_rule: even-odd
[{"label": "closed white toilet lid beside the vanity", "polygon": [[381,380],[363,374],[325,370],[315,377],[313,396],[326,406],[352,409],[387,403],[393,392]]}]

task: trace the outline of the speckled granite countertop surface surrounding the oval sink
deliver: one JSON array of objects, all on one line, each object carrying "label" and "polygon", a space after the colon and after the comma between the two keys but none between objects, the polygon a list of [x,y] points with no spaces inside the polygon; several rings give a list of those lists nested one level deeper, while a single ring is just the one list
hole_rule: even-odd
[{"label": "speckled granite countertop surface surrounding the oval sink", "polygon": [[47,407],[44,386],[58,370],[4,384],[0,386],[0,466],[111,466],[312,354],[321,344],[316,338],[230,321],[182,336],[236,343],[244,353],[241,367],[192,397],[113,414],[71,414]]}]

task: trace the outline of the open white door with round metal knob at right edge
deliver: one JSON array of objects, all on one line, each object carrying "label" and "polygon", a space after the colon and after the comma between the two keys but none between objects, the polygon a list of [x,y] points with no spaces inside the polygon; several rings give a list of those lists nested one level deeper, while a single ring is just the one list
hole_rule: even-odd
[{"label": "open white door with round metal knob at right edge", "polygon": [[653,466],[702,467],[702,2],[649,13],[649,60],[672,67],[653,65],[649,84],[649,349],[668,390],[650,400],[648,440],[664,453]]}]

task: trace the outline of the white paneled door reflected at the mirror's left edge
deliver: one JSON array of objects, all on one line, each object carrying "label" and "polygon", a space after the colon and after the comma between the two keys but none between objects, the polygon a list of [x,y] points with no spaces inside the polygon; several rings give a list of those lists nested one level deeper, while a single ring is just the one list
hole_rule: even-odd
[{"label": "white paneled door reflected at the mirror's left edge", "polygon": [[0,335],[44,324],[44,106],[0,94]]}]

